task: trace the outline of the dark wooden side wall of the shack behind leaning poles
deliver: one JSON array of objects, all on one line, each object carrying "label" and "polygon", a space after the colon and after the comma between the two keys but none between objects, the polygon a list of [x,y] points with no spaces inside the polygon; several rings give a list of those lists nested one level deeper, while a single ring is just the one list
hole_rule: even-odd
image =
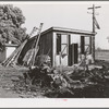
[{"label": "dark wooden side wall of the shack behind leaning poles", "polygon": [[[27,44],[24,46],[20,58],[19,58],[19,63],[23,64],[23,58],[25,57],[26,52],[33,48],[33,44],[34,44],[35,37],[31,38]],[[51,57],[52,56],[52,33],[47,33],[45,35],[40,36],[40,40],[39,40],[39,51],[38,55],[48,55]],[[52,61],[52,59],[51,59]]]}]

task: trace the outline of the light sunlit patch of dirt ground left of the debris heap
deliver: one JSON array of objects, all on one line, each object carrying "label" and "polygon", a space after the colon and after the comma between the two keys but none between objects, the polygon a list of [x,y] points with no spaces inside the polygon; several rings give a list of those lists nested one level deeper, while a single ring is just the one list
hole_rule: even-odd
[{"label": "light sunlit patch of dirt ground left of the debris heap", "polygon": [[45,98],[40,92],[33,93],[25,89],[23,73],[26,71],[26,68],[0,65],[0,98]]}]

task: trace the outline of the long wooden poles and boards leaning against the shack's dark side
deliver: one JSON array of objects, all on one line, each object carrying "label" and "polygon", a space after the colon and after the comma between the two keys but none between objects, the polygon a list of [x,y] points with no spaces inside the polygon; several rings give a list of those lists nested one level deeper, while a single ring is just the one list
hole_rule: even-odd
[{"label": "long wooden poles and boards leaning against the shack's dark side", "polygon": [[[34,44],[32,45],[32,49],[27,51],[26,56],[24,57],[24,65],[34,65],[34,62],[35,62],[35,58],[36,58],[36,55],[38,52],[38,43],[39,43],[39,38],[40,38],[40,31],[41,31],[41,27],[43,27],[43,23],[40,23],[40,27],[38,28],[38,33],[37,33],[37,36],[35,36],[35,41]],[[24,48],[24,46],[26,45],[28,38],[31,37],[31,35],[36,31],[37,28],[34,27],[33,32],[29,34],[29,36],[13,51],[13,53],[2,62],[2,65],[4,66],[9,66],[9,65],[12,65],[12,66],[15,66],[17,64],[17,59]]]}]

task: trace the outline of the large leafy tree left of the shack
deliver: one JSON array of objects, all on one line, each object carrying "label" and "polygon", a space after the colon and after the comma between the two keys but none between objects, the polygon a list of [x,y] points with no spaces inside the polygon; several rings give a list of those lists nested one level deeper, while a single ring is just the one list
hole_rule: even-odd
[{"label": "large leafy tree left of the shack", "polygon": [[22,10],[12,4],[0,5],[0,43],[20,45],[26,38],[26,28],[22,27],[25,17]]}]

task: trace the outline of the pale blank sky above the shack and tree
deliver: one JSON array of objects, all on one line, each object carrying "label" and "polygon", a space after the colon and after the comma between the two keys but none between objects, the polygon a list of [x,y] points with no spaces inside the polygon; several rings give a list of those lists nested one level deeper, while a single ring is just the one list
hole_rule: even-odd
[{"label": "pale blank sky above the shack and tree", "polygon": [[109,49],[107,37],[109,36],[109,2],[11,2],[14,7],[19,7],[26,17],[24,27],[29,34],[34,26],[39,26],[44,23],[43,31],[51,27],[68,27],[83,31],[93,29],[92,10],[87,8],[100,5],[96,12],[96,19],[99,23],[100,29],[96,29],[96,47]]}]

